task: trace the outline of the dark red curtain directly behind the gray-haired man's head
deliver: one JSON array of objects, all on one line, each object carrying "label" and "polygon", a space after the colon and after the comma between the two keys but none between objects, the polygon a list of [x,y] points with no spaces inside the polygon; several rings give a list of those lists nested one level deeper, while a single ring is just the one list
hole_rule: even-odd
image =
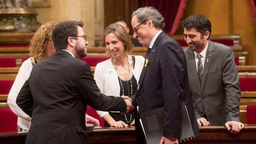
[{"label": "dark red curtain directly behind the gray-haired man's head", "polygon": [[141,6],[156,8],[165,19],[163,31],[169,35],[175,34],[186,7],[187,0],[141,0]]}]

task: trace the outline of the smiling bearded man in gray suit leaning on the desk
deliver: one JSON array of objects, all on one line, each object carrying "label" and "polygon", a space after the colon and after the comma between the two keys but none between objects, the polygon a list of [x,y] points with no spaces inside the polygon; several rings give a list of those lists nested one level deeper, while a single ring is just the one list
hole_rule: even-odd
[{"label": "smiling bearded man in gray suit leaning on the desk", "polygon": [[191,15],[182,22],[189,74],[189,87],[198,125],[224,125],[237,134],[241,92],[233,50],[209,40],[211,22],[204,15]]}]

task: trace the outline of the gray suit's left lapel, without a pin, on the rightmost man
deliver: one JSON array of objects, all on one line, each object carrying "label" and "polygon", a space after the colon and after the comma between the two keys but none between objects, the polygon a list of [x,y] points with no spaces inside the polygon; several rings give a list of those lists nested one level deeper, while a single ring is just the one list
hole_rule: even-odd
[{"label": "gray suit's left lapel, without a pin, on the rightmost man", "polygon": [[189,67],[191,69],[191,72],[193,74],[193,78],[195,80],[196,86],[198,88],[198,90],[201,92],[201,84],[200,84],[200,80],[198,77],[198,73],[196,70],[196,64],[195,64],[195,54],[192,50],[189,50]]}]

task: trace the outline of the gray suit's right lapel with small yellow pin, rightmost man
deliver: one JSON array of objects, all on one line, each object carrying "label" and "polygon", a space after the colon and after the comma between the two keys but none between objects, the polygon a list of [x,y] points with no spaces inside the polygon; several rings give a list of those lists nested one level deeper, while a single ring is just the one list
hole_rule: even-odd
[{"label": "gray suit's right lapel with small yellow pin, rightmost man", "polygon": [[209,40],[208,48],[207,48],[206,55],[205,55],[205,63],[204,63],[204,70],[203,70],[203,76],[202,76],[201,93],[204,90],[205,80],[206,80],[206,77],[207,77],[207,74],[208,74],[208,70],[209,70],[213,55],[214,55],[213,45],[212,45],[212,42]]}]

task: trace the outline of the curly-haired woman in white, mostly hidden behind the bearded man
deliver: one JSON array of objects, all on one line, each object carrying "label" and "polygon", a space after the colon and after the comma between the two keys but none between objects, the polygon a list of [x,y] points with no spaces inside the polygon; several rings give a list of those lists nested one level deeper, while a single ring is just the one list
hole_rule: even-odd
[{"label": "curly-haired woman in white, mostly hidden behind the bearded man", "polygon": [[29,130],[31,117],[24,113],[16,104],[16,98],[25,81],[29,78],[33,67],[40,61],[49,58],[55,53],[51,39],[55,22],[48,22],[40,26],[30,40],[30,57],[24,61],[19,69],[16,79],[8,95],[7,103],[10,109],[18,116],[17,131]]}]

